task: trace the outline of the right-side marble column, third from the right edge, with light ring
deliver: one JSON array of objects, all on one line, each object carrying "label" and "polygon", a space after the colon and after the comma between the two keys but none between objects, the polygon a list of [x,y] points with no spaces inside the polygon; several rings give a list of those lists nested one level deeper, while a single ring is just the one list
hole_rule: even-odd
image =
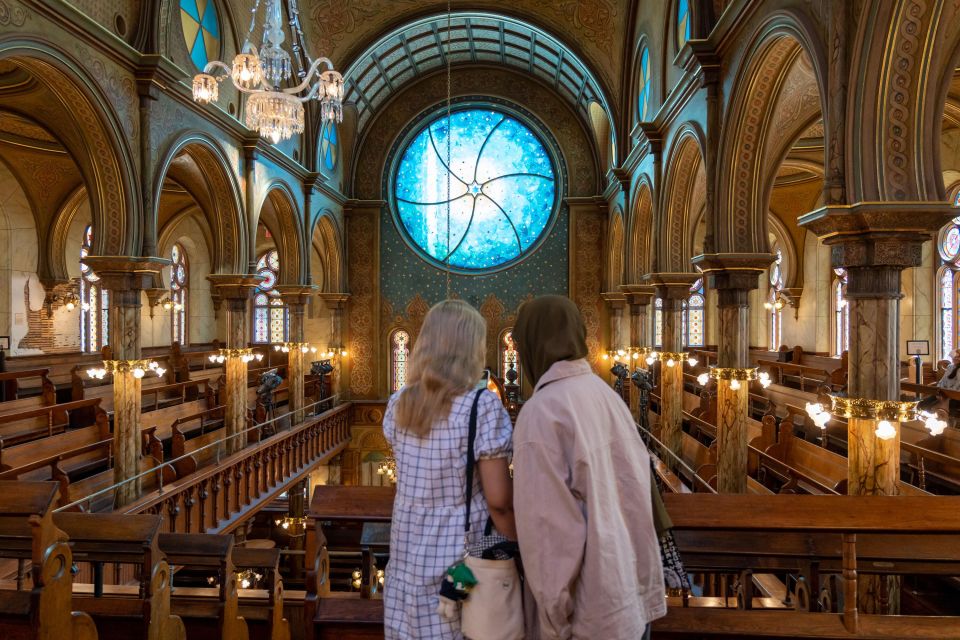
[{"label": "right-side marble column, third from the right edge, with light ring", "polygon": [[[696,273],[655,273],[647,280],[663,300],[663,346],[660,350],[660,440],[677,458],[683,452],[683,302]],[[670,466],[675,467],[674,460]]]}]

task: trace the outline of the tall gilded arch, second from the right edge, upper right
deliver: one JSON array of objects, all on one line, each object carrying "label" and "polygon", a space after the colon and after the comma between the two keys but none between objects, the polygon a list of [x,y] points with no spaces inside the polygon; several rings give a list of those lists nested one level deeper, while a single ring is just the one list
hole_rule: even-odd
[{"label": "tall gilded arch, second from the right edge, upper right", "polygon": [[[767,203],[780,161],[793,141],[810,126],[812,109],[824,113],[823,47],[797,15],[774,12],[755,30],[734,79],[719,153],[718,198],[713,231],[720,253],[766,253]],[[805,57],[811,73],[802,87],[790,87],[788,74]],[[789,89],[789,91],[788,91]],[[816,93],[815,105],[798,103],[785,119],[778,102],[792,93]],[[809,100],[807,100],[809,103]],[[771,176],[770,166],[773,166]]]}]

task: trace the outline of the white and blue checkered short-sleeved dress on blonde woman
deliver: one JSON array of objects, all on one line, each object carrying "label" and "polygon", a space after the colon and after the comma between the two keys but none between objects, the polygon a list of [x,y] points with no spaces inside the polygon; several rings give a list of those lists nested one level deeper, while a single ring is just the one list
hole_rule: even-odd
[{"label": "white and blue checkered short-sleeved dress on blonde woman", "polygon": [[[467,433],[475,394],[471,390],[455,398],[450,415],[425,438],[394,423],[399,394],[387,404],[383,433],[393,447],[398,476],[384,592],[387,640],[463,637],[459,622],[441,618],[437,604],[444,572],[463,557]],[[510,456],[512,435],[503,404],[484,392],[477,407],[477,459]],[[489,515],[479,474],[473,477],[471,537],[482,535]]]}]

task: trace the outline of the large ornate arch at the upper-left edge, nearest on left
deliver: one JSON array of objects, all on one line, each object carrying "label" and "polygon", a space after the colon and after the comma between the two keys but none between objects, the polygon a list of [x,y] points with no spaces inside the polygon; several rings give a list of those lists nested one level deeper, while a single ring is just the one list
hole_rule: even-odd
[{"label": "large ornate arch at the upper-left edge, nearest on left", "polygon": [[110,100],[69,52],[36,38],[0,38],[0,61],[16,64],[59,104],[32,114],[68,149],[88,188],[94,253],[139,255],[142,205],[133,153]]}]

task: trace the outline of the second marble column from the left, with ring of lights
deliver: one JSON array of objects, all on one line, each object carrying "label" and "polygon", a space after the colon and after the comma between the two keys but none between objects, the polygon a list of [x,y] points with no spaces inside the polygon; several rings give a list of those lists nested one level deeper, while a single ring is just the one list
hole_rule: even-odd
[{"label": "second marble column from the left, with ring of lights", "polygon": [[226,307],[226,362],[224,377],[224,440],[227,455],[244,448],[246,438],[239,436],[247,427],[247,362],[242,353],[247,350],[249,318],[248,302],[253,289],[260,283],[259,276],[243,274],[216,274],[207,276],[212,288]]}]

